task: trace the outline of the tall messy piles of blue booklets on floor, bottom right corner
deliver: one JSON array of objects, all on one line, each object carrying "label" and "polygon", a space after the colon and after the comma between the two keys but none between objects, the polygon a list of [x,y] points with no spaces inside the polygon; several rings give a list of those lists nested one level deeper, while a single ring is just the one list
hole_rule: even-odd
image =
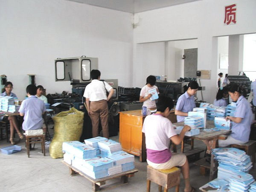
[{"label": "tall messy piles of blue booklets on floor, bottom right corner", "polygon": [[218,178],[207,183],[210,187],[232,192],[247,192],[252,188],[254,179],[248,174],[252,168],[250,156],[237,148],[215,148],[212,154],[219,166]]}]

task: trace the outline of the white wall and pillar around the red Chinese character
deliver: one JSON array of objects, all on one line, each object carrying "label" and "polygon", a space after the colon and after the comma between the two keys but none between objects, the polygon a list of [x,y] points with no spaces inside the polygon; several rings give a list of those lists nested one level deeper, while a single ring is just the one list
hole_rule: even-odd
[{"label": "white wall and pillar around the red Chinese character", "polygon": [[[224,7],[236,3],[236,24],[224,25]],[[256,32],[255,0],[203,0],[135,14],[139,23],[134,29],[133,84],[136,86],[142,68],[141,44],[159,41],[197,39],[198,70],[210,70],[210,79],[202,79],[204,100],[212,102],[216,95],[218,37]],[[231,64],[230,64],[231,65]],[[198,94],[199,95],[199,94]],[[198,99],[201,99],[198,96]]]}]

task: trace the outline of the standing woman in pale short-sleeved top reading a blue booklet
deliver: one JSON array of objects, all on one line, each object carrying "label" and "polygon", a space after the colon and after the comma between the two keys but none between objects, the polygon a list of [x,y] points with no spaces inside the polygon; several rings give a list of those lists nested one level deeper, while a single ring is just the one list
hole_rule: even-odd
[{"label": "standing woman in pale short-sleeved top reading a blue booklet", "polygon": [[156,101],[151,101],[150,98],[152,94],[148,92],[149,90],[156,89],[157,94],[159,93],[157,86],[154,85],[156,83],[156,78],[155,76],[148,76],[146,81],[146,85],[142,87],[140,91],[140,102],[143,102],[143,106],[147,108],[156,108]]}]

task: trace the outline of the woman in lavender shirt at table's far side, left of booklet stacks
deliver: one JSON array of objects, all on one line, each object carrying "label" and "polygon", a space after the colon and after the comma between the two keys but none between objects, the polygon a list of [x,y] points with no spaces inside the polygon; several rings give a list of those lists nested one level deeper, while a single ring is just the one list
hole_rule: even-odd
[{"label": "woman in lavender shirt at table's far side, left of booklet stacks", "polygon": [[177,122],[184,121],[184,118],[188,116],[189,111],[193,111],[195,108],[194,95],[198,90],[198,83],[196,81],[190,81],[185,87],[186,92],[183,93],[177,100],[175,107],[175,115],[177,115]]}]

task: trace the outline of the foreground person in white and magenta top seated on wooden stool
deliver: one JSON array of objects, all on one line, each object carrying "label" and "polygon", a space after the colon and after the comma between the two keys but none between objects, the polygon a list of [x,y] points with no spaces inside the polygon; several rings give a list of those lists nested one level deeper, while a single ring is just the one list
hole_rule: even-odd
[{"label": "foreground person in white and magenta top seated on wooden stool", "polygon": [[185,180],[184,192],[193,192],[195,189],[189,182],[189,163],[185,154],[172,154],[169,150],[170,140],[180,144],[186,131],[191,128],[184,126],[180,135],[177,135],[172,122],[166,117],[174,106],[171,98],[160,96],[157,102],[157,113],[145,117],[142,132],[145,133],[148,165],[154,169],[171,169],[181,167]]}]

